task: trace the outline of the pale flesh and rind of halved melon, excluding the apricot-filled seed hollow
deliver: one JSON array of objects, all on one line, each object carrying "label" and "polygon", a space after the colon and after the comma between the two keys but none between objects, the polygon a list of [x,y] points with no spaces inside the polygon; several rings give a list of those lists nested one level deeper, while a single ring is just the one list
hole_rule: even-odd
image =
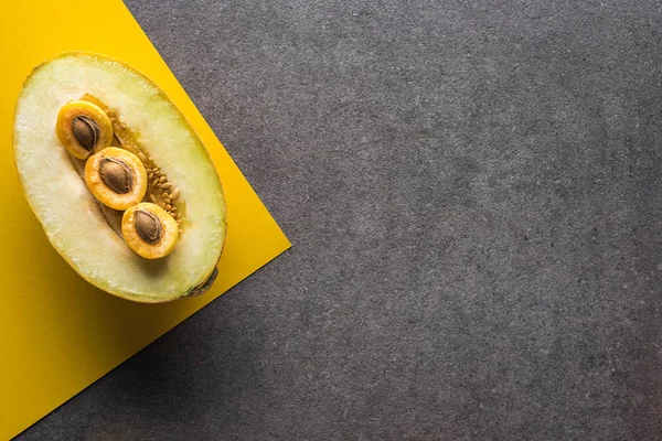
[{"label": "pale flesh and rind of halved melon, excluding the apricot-filled seed hollow", "polygon": [[[154,163],[180,189],[185,222],[169,256],[146,260],[110,228],[55,133],[60,108],[85,94],[117,110]],[[221,182],[184,116],[136,69],[105,56],[65,53],[23,84],[14,158],[30,207],[57,252],[92,284],[138,302],[200,294],[215,278],[227,226]]]}]

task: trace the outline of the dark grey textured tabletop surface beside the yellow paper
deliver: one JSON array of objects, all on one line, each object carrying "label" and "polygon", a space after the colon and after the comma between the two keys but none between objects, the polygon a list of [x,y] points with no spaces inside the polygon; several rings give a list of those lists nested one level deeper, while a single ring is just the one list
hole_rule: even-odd
[{"label": "dark grey textured tabletop surface beside the yellow paper", "polygon": [[128,6],[295,248],[21,440],[662,438],[659,1]]}]

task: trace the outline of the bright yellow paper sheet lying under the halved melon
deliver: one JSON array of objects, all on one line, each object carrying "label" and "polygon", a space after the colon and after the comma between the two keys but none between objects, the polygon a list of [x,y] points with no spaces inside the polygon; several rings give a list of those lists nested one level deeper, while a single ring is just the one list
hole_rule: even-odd
[{"label": "bright yellow paper sheet lying under the halved melon", "polygon": [[[206,294],[158,305],[120,300],[81,279],[50,246],[19,184],[12,116],[30,71],[64,51],[97,52],[137,67],[207,146],[225,190],[228,229],[218,278]],[[119,0],[1,2],[0,62],[0,439],[8,439],[290,245]]]}]

